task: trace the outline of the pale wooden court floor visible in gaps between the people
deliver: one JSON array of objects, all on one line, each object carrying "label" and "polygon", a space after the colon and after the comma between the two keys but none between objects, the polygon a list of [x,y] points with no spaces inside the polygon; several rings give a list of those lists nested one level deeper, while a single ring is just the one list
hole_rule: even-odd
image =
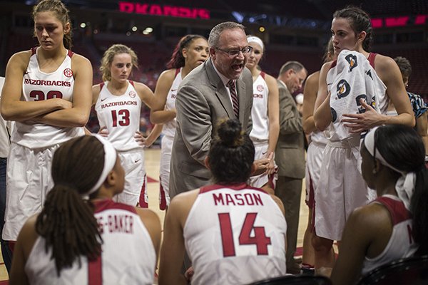
[{"label": "pale wooden court floor visible in gaps between the people", "polygon": [[[148,182],[148,203],[149,208],[153,209],[161,219],[163,224],[163,219],[165,217],[165,212],[159,210],[159,159],[161,156],[161,150],[158,148],[150,148],[145,152],[146,158],[146,172],[149,179]],[[153,182],[154,181],[154,182]],[[303,180],[302,186],[302,199],[300,202],[300,222],[299,222],[299,231],[297,233],[297,254],[301,254],[301,247],[303,244],[303,234],[305,234],[305,229],[307,226],[307,206],[305,204],[305,180]],[[1,257],[0,257],[1,259]],[[0,285],[3,285],[1,281],[8,280],[9,276],[6,271],[6,267],[3,264],[3,259],[1,259],[0,264]],[[7,284],[6,282],[4,284]]]}]

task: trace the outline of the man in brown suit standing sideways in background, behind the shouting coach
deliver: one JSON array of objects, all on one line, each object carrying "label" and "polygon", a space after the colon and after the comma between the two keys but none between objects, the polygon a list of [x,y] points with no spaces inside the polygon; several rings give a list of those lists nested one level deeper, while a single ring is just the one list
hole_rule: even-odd
[{"label": "man in brown suit standing sideways in background, behind the shouting coach", "polygon": [[287,273],[299,274],[300,265],[295,261],[297,229],[299,226],[302,179],[305,177],[305,145],[302,118],[292,93],[302,87],[307,71],[302,63],[288,61],[280,69],[280,136],[275,150],[278,180],[275,195],[285,207],[287,221]]}]

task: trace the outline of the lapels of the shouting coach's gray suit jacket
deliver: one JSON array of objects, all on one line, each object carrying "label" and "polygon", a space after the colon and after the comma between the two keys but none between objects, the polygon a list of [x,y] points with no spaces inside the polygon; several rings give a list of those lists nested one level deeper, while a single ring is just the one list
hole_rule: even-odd
[{"label": "lapels of the shouting coach's gray suit jacket", "polygon": [[[215,89],[215,95],[220,101],[220,104],[225,109],[226,113],[228,113],[229,118],[235,118],[235,114],[233,113],[232,102],[230,101],[230,95],[228,93],[228,90],[226,90],[226,87],[223,84],[223,81],[221,81],[220,77],[215,72],[211,58],[209,58],[205,64],[206,64],[208,79],[211,83],[211,86],[213,86],[213,88]],[[238,91],[238,96],[240,96],[239,94],[240,94],[240,91]],[[240,97],[239,97],[239,100],[240,100]]]}]

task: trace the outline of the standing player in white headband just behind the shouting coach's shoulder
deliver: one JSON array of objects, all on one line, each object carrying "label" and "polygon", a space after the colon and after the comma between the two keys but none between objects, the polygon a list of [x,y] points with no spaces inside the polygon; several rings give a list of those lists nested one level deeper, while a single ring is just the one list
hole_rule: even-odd
[{"label": "standing player in white headband just behind the shouting coach's shoulder", "polygon": [[280,103],[277,81],[272,76],[260,71],[258,64],[263,57],[265,45],[257,36],[247,36],[248,45],[253,47],[250,51],[247,64],[253,75],[253,108],[251,119],[253,129],[250,138],[255,147],[255,160],[270,158],[267,171],[261,175],[250,177],[249,184],[266,190],[270,194],[275,191],[275,147],[280,132]]}]

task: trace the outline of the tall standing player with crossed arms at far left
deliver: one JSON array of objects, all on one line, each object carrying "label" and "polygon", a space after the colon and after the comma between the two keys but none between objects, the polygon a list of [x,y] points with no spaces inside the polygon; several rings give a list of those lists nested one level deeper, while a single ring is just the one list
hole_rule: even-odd
[{"label": "tall standing player with crossed arms at far left", "polygon": [[91,109],[91,63],[71,48],[68,9],[58,0],[34,6],[36,48],[6,67],[1,115],[16,121],[7,165],[3,238],[14,241],[51,190],[51,159],[61,143],[83,135]]}]

